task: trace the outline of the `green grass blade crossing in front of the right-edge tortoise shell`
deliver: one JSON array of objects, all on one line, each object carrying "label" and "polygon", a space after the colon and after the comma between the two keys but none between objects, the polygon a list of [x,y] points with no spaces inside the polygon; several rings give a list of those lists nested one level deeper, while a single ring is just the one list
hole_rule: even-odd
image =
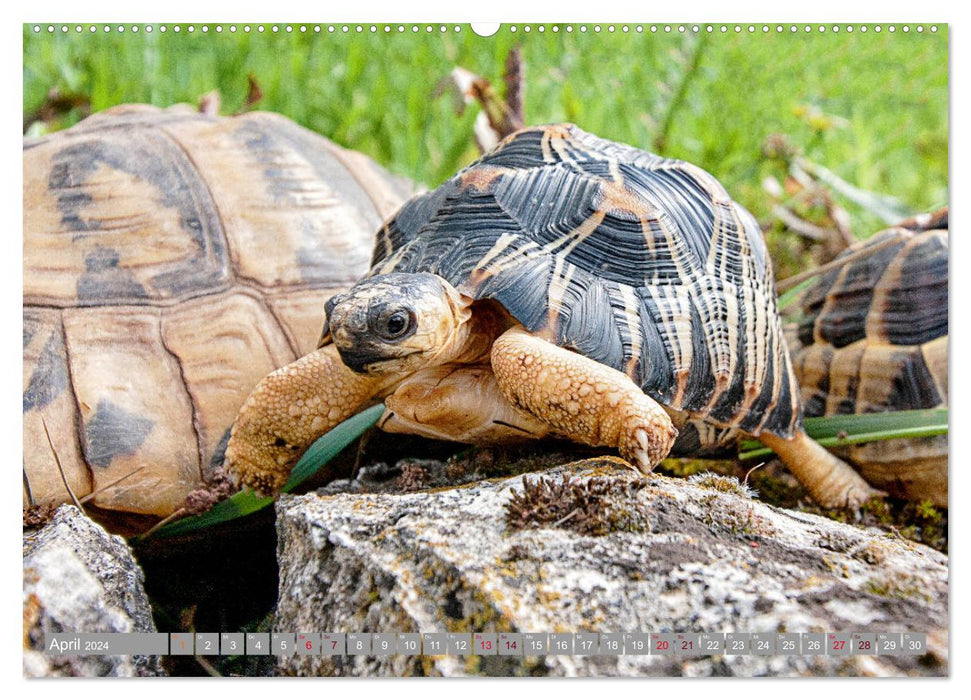
[{"label": "green grass blade crossing in front of the right-edge tortoise shell", "polygon": [[[947,420],[946,408],[930,408],[807,418],[805,427],[809,436],[823,447],[842,447],[878,440],[944,435]],[[772,450],[758,440],[743,440],[738,458],[755,459],[771,454]]]}]

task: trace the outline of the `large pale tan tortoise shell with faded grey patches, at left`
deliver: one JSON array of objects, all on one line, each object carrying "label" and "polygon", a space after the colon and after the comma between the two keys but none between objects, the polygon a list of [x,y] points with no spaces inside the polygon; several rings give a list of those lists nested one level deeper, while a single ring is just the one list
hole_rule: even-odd
[{"label": "large pale tan tortoise shell with faded grey patches, at left", "polygon": [[313,349],[410,194],[281,116],[187,107],[96,114],[25,141],[23,166],[24,502],[67,501],[63,469],[78,498],[155,516]]}]

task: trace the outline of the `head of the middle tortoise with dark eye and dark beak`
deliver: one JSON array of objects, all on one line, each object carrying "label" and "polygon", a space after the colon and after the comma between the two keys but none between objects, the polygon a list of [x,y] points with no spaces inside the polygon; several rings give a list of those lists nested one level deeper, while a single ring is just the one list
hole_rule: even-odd
[{"label": "head of the middle tortoise with dark eye and dark beak", "polygon": [[441,277],[392,273],[328,301],[324,335],[355,372],[409,373],[461,352],[470,317],[469,301]]}]

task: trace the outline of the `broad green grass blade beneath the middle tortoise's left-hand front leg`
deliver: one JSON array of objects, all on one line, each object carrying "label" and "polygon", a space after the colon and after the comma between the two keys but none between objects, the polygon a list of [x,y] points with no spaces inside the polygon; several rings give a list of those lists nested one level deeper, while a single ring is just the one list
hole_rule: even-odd
[{"label": "broad green grass blade beneath the middle tortoise's left-hand front leg", "polygon": [[[383,412],[383,404],[372,406],[348,418],[329,433],[321,436],[297,462],[290,473],[290,479],[283,487],[283,491],[292,491],[306,481],[318,469],[337,456],[341,450],[360,437],[365,430],[377,423]],[[225,501],[220,501],[201,515],[191,515],[160,527],[152,533],[152,536],[184,535],[205,527],[242,518],[266,508],[271,503],[273,503],[271,496],[257,496],[252,491],[240,491]]]}]

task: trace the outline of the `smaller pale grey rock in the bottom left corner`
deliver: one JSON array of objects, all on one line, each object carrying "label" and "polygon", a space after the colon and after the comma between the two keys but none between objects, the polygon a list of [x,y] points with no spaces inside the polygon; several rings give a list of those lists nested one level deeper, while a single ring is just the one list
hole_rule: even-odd
[{"label": "smaller pale grey rock in the bottom left corner", "polygon": [[125,541],[74,506],[23,538],[24,675],[158,676],[157,656],[59,656],[58,632],[155,632],[144,574]]}]

